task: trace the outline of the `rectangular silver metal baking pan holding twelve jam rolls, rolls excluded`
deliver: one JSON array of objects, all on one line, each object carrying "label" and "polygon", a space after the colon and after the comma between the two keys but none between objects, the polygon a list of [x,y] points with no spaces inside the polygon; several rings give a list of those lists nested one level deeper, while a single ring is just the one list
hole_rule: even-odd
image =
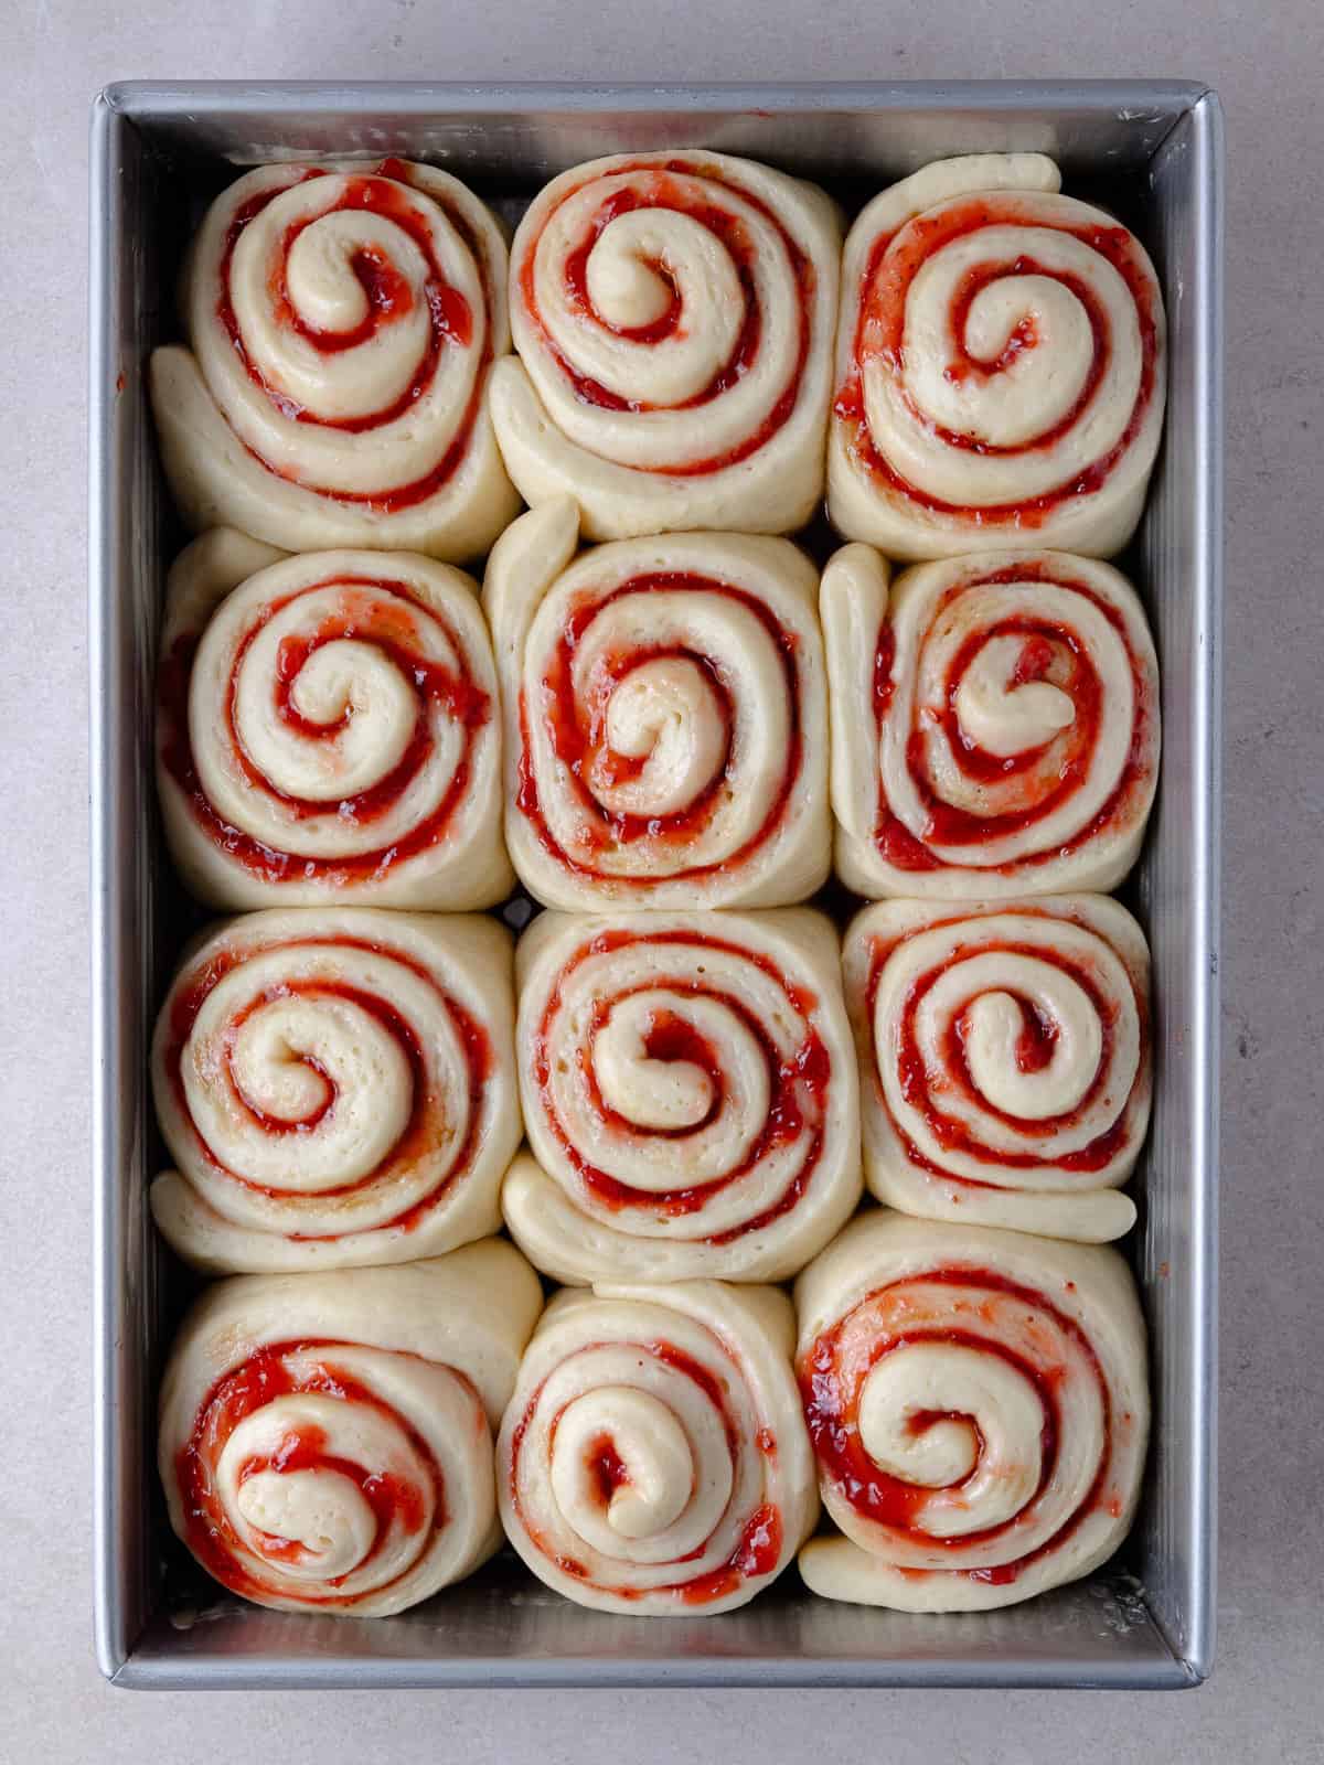
[{"label": "rectangular silver metal baking pan holding twelve jam rolls, rolls excluded", "polygon": [[[950,154],[1034,148],[1116,207],[1158,265],[1167,441],[1123,560],[1163,667],[1163,777],[1128,898],[1155,955],[1156,1105],[1132,1237],[1153,1336],[1142,1518],[1093,1581],[976,1617],[810,1597],[794,1571],[726,1617],[584,1611],[498,1558],[387,1620],[286,1617],[208,1583],[157,1491],[155,1384],[184,1278],[155,1241],[147,1047],[196,909],[155,826],[152,669],[182,535],[143,390],[201,203],[238,168],[399,154],[517,212],[597,154],[706,145],[826,184],[847,207]],[[1222,120],[1181,81],[842,86],[120,85],[92,116],[92,937],[95,1085],[95,1634],[120,1686],[1188,1686],[1215,1581],[1215,1179],[1220,669]]]}]

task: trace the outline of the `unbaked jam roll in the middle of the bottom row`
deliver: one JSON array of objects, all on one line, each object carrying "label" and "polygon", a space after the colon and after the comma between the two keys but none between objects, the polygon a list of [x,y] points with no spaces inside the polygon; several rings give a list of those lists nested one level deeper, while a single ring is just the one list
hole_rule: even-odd
[{"label": "unbaked jam roll in the middle of the bottom row", "polygon": [[496,1449],[501,1525],[581,1606],[697,1617],[754,1599],[817,1516],[773,1287],[565,1290],[542,1315]]}]

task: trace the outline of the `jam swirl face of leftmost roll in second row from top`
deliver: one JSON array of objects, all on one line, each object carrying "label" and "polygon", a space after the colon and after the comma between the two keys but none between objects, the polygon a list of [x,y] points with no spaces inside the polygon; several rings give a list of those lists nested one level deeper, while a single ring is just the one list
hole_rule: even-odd
[{"label": "jam swirl face of leftmost roll in second row from top", "polygon": [[[493,697],[473,678],[480,658],[408,582],[337,574],[260,600],[212,639],[199,674],[203,644],[184,630],[162,657],[161,762],[198,828],[252,879],[381,882],[471,821]],[[215,731],[207,754],[191,711],[192,729]],[[374,727],[380,759],[364,752]]]}]

